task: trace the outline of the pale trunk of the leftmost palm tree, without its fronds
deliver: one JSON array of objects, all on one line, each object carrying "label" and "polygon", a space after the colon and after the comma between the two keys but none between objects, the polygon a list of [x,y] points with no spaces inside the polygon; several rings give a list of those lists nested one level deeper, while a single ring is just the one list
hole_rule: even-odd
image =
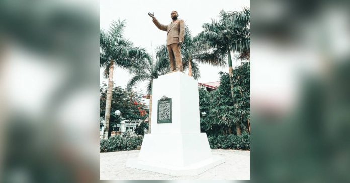
[{"label": "pale trunk of the leftmost palm tree, without its fronds", "polygon": [[106,96],[106,110],[105,110],[105,131],[104,139],[108,139],[109,119],[111,114],[111,103],[112,103],[112,89],[113,89],[113,60],[111,60],[111,66],[109,68],[108,85],[107,85],[107,96]]}]

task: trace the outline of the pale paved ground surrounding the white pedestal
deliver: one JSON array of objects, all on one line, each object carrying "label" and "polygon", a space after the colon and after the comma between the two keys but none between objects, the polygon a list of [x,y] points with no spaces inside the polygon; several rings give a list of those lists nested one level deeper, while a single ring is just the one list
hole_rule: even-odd
[{"label": "pale paved ground surrounding the white pedestal", "polygon": [[137,157],[139,150],[100,153],[101,180],[249,180],[250,151],[212,150],[226,162],[196,176],[170,176],[125,167],[128,158]]}]

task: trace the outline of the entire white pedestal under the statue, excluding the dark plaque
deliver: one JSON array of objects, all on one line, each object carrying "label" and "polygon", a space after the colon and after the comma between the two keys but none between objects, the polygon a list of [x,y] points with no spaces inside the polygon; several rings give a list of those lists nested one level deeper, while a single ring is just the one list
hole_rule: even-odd
[{"label": "entire white pedestal under the statue, excluding the dark plaque", "polygon": [[[157,123],[158,100],[172,99],[172,123]],[[182,72],[153,80],[152,131],[145,134],[138,158],[126,166],[173,176],[197,175],[224,159],[211,154],[200,133],[198,83]]]}]

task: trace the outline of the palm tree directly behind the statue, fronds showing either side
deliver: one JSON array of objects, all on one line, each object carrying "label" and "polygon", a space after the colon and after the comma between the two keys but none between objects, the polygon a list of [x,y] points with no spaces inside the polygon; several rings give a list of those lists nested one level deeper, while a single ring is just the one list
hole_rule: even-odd
[{"label": "palm tree directly behind the statue, fronds showing either side", "polygon": [[[201,34],[192,37],[188,26],[185,26],[184,43],[181,46],[181,55],[184,70],[188,69],[189,76],[199,79],[200,71],[198,63],[210,64],[213,66],[225,66],[224,55],[217,49],[210,49],[209,45],[201,40]],[[157,58],[168,58],[166,45],[157,48]],[[169,63],[169,61],[168,61]]]}]

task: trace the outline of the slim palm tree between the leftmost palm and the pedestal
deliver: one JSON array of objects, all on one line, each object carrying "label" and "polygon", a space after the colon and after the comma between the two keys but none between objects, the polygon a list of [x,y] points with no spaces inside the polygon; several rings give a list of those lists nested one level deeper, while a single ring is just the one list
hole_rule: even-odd
[{"label": "slim palm tree between the leftmost palm and the pedestal", "polygon": [[139,82],[148,81],[147,93],[149,94],[149,114],[148,114],[148,133],[151,133],[152,123],[152,84],[153,79],[165,74],[169,70],[169,62],[164,57],[159,57],[157,62],[153,62],[153,58],[148,54],[145,54],[136,64],[131,67],[131,73],[134,76],[127,84],[127,88],[130,89]]}]

